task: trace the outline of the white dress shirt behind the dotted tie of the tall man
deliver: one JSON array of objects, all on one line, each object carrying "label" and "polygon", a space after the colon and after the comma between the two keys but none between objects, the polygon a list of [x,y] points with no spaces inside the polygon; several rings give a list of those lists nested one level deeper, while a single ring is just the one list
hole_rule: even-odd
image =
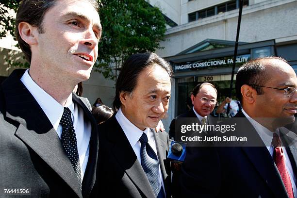
[{"label": "white dress shirt behind the dotted tie of the tall man", "polygon": [[[47,115],[50,123],[61,139],[62,126],[60,125],[60,120],[64,112],[64,106],[53,99],[48,93],[46,93],[33,81],[31,76],[29,75],[29,69],[27,69],[27,71],[22,76],[21,82],[23,82],[34,99],[38,102],[39,106]],[[89,120],[83,119],[83,110],[81,107],[79,107],[78,104],[72,101],[72,94],[69,95],[65,107],[68,107],[71,111],[83,178],[85,168],[89,159],[89,142],[92,130],[91,123]]]}]

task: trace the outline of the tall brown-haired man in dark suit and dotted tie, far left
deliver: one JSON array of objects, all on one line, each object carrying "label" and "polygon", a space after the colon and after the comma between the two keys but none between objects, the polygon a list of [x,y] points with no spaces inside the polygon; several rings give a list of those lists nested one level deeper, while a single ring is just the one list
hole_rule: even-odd
[{"label": "tall brown-haired man in dark suit and dotted tie, far left", "polygon": [[0,197],[90,197],[97,123],[72,90],[89,78],[101,25],[95,0],[22,0],[16,38],[30,69],[0,86]]}]

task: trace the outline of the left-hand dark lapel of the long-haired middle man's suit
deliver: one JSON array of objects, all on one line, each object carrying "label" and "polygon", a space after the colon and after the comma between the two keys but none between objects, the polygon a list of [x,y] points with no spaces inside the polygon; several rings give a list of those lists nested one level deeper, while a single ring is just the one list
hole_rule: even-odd
[{"label": "left-hand dark lapel of the long-haired middle man's suit", "polygon": [[109,127],[114,129],[114,132],[108,133],[108,139],[114,143],[112,152],[118,164],[123,168],[134,185],[137,186],[146,197],[154,197],[148,178],[137,160],[135,152],[124,131],[115,119],[115,115],[110,118],[109,123]]}]

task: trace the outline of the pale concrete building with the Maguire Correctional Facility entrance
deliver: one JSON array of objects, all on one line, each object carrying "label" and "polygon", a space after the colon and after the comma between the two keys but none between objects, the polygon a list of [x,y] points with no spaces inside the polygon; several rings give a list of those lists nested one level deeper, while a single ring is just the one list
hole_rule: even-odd
[{"label": "pale concrete building with the Maguire Correctional Facility entrance", "polygon": [[[236,69],[249,59],[281,56],[297,70],[297,0],[244,0]],[[165,129],[185,111],[188,92],[212,82],[228,96],[239,0],[149,0],[176,23],[156,51],[174,68]]]}]

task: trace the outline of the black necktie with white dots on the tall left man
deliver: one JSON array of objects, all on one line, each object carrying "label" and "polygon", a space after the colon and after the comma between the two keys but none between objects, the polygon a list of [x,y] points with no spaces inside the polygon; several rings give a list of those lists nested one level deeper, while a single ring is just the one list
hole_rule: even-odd
[{"label": "black necktie with white dots on the tall left man", "polygon": [[70,109],[64,107],[64,112],[60,121],[62,126],[61,140],[68,158],[74,168],[75,175],[82,189],[82,174],[80,166],[80,157],[77,150],[76,135],[73,127]]}]

